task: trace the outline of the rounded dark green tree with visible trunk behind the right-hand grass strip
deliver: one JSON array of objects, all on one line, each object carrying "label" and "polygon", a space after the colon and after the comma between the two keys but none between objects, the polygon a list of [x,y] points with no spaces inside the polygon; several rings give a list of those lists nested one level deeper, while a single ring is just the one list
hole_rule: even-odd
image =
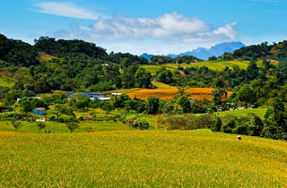
[{"label": "rounded dark green tree with visible trunk behind the right-hand grass strip", "polygon": [[254,103],[257,100],[255,91],[248,85],[244,85],[238,91],[238,96],[240,101],[245,102],[245,107],[248,108],[248,104]]}]

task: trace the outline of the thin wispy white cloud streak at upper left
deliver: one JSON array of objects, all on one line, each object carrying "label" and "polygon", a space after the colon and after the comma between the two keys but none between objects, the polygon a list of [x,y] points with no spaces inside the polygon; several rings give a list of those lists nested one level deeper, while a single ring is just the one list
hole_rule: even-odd
[{"label": "thin wispy white cloud streak at upper left", "polygon": [[57,16],[65,16],[87,20],[98,20],[100,17],[99,13],[93,13],[90,10],[77,7],[74,4],[42,2],[34,5],[39,8],[38,10],[36,10],[36,12],[39,13],[47,13]]}]

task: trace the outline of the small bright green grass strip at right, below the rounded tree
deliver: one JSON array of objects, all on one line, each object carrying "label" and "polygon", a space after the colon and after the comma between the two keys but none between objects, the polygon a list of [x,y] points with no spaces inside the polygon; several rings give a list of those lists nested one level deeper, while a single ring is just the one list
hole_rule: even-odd
[{"label": "small bright green grass strip at right, below the rounded tree", "polygon": [[219,116],[225,115],[235,115],[235,116],[248,116],[248,114],[258,115],[261,119],[264,119],[264,115],[267,111],[267,108],[256,108],[256,109],[241,109],[235,111],[224,111],[220,112]]}]

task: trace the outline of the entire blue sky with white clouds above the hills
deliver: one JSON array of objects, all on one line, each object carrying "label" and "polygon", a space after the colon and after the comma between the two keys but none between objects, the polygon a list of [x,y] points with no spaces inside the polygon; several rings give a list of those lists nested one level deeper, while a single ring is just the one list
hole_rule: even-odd
[{"label": "entire blue sky with white clouds above the hills", "polygon": [[279,42],[286,18],[287,0],[0,0],[8,38],[77,38],[135,55]]}]

